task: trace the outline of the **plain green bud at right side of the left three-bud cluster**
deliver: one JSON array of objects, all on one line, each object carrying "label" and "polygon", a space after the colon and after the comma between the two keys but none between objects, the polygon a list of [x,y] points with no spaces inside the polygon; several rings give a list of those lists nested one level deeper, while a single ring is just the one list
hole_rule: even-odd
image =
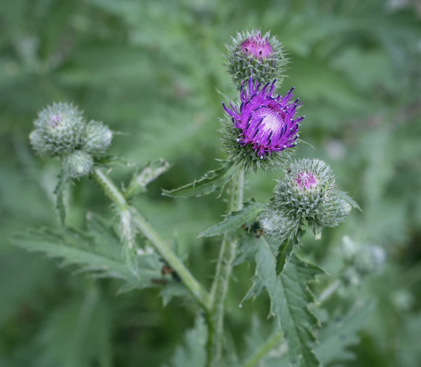
[{"label": "plain green bud at right side of the left three-bud cluster", "polygon": [[85,128],[82,149],[95,158],[101,158],[107,153],[111,144],[112,131],[99,121],[89,121]]}]

